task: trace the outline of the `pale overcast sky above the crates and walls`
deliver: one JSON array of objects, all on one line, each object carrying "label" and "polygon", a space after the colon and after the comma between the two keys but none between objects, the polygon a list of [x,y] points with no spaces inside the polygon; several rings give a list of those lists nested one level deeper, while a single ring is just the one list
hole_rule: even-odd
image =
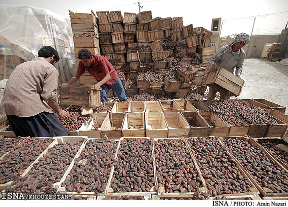
[{"label": "pale overcast sky above the crates and walls", "polygon": [[[137,0],[0,0],[1,4],[46,8],[66,18],[69,11],[90,13],[114,11],[138,13]],[[151,10],[155,17],[183,17],[183,24],[211,30],[211,19],[221,17],[221,36],[245,32],[280,33],[288,21],[288,0],[139,0],[141,11]],[[267,15],[265,15],[267,14]],[[248,18],[244,18],[248,17]]]}]

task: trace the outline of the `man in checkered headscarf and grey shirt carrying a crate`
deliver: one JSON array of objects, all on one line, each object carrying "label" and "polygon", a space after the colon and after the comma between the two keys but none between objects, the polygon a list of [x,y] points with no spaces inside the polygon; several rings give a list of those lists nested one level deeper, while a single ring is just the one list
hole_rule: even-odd
[{"label": "man in checkered headscarf and grey shirt carrying a crate", "polygon": [[[211,71],[215,71],[217,66],[220,66],[229,72],[233,73],[234,68],[235,75],[240,77],[242,73],[242,66],[245,59],[245,51],[242,47],[250,41],[250,37],[246,33],[240,33],[235,36],[233,41],[218,49],[209,60],[209,66]],[[209,93],[207,100],[214,100],[217,90],[209,87]],[[229,96],[225,96],[220,93],[220,99],[229,99]]]}]

